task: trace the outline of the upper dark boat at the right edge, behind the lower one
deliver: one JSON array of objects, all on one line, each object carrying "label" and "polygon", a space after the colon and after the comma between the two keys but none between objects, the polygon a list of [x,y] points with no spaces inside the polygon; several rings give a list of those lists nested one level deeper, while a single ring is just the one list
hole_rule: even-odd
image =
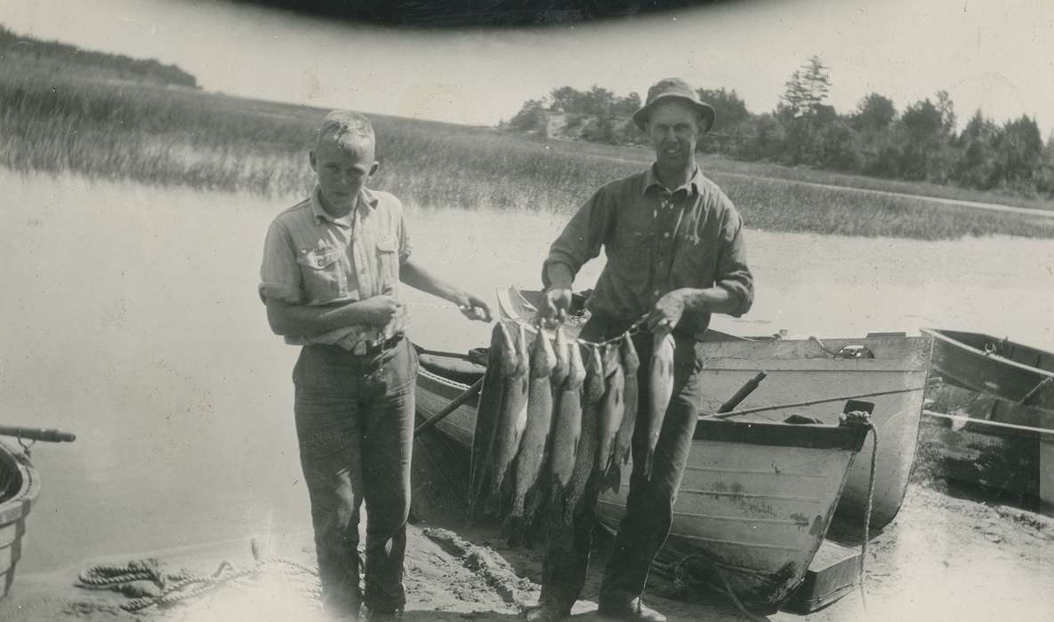
[{"label": "upper dark boat at the right edge, behind the lower one", "polygon": [[1054,354],[981,333],[924,329],[941,379],[981,394],[1054,409]]}]

